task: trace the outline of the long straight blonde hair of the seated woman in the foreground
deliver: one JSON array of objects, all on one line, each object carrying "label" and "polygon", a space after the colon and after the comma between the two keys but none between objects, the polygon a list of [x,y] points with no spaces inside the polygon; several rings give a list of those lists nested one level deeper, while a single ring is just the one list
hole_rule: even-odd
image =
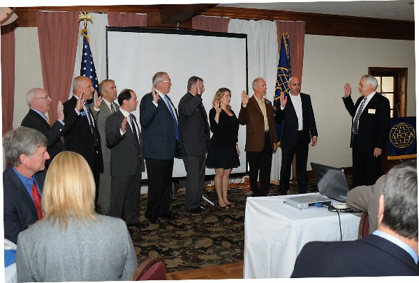
[{"label": "long straight blonde hair of the seated woman in the foreground", "polygon": [[96,220],[96,186],[91,169],[82,155],[63,151],[52,160],[45,177],[43,220],[59,221],[66,228],[68,218],[83,222]]}]

